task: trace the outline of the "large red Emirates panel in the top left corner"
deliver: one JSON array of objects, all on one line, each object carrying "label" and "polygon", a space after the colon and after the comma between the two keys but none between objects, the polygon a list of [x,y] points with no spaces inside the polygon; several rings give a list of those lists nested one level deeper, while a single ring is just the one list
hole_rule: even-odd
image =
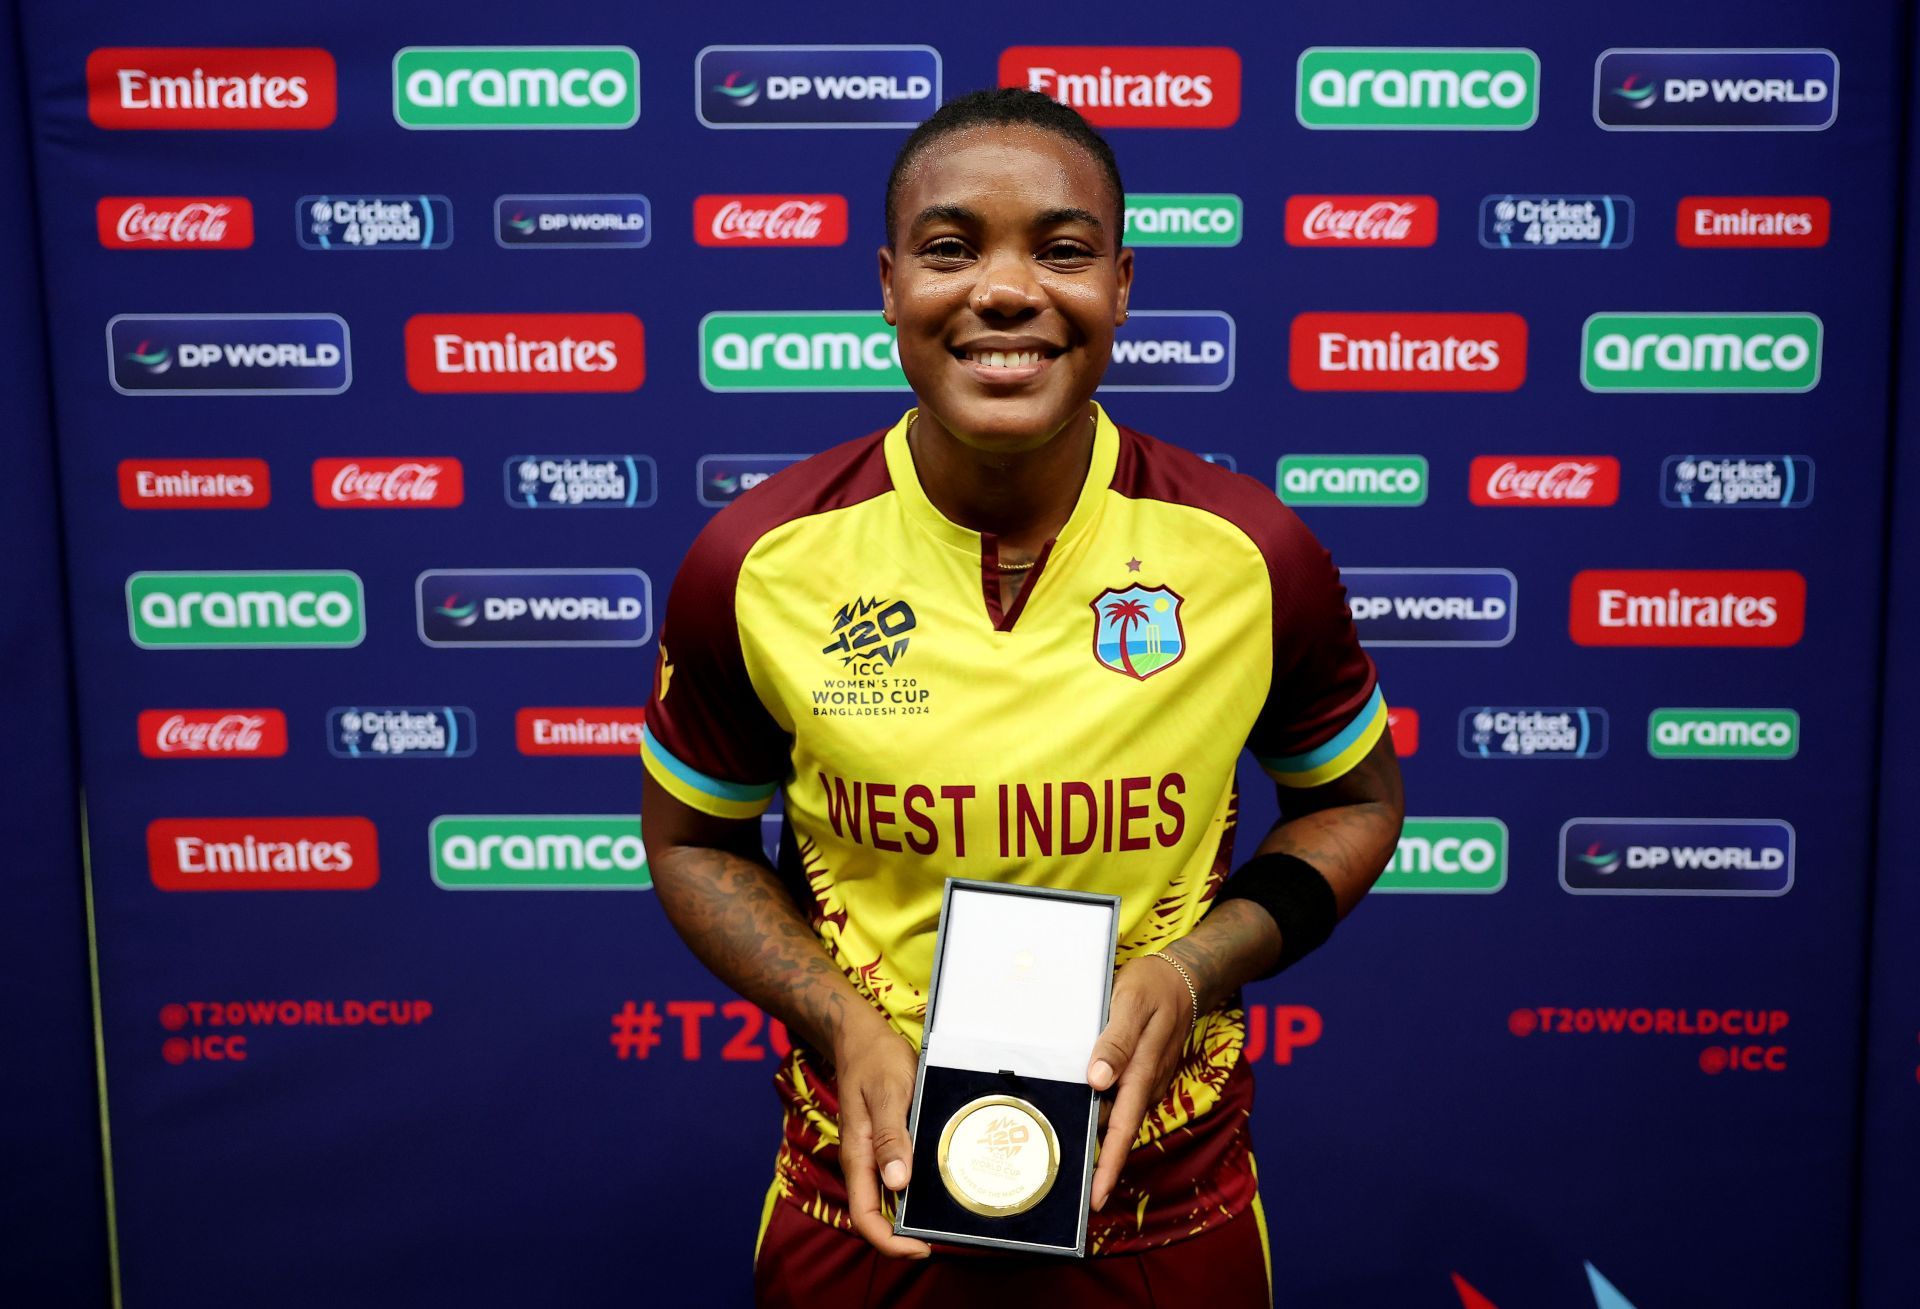
[{"label": "large red Emirates panel in the top left corner", "polygon": [[109,46],[86,56],[86,117],[106,129],[317,129],[334,56],[315,48]]}]

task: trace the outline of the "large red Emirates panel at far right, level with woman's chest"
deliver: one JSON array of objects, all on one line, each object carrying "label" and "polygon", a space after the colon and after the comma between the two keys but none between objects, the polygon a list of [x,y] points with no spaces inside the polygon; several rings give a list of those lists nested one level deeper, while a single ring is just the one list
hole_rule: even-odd
[{"label": "large red Emirates panel at far right, level with woman's chest", "polygon": [[1588,568],[1572,578],[1574,645],[1793,645],[1807,578],[1789,570]]}]

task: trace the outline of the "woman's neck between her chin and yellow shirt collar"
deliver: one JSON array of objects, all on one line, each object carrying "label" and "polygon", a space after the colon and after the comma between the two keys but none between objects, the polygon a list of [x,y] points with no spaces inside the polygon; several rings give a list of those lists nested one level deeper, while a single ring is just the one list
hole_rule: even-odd
[{"label": "woman's neck between her chin and yellow shirt collar", "polygon": [[1089,405],[1044,445],[981,451],[922,407],[908,432],[908,449],[927,499],[950,522],[991,532],[1002,547],[1039,553],[1073,514],[1092,463],[1092,430]]}]

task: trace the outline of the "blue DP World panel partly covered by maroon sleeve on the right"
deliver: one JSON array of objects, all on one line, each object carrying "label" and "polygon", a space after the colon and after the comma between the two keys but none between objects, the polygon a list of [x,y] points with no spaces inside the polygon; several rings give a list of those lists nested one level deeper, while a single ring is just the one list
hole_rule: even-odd
[{"label": "blue DP World panel partly covered by maroon sleeve on the right", "polygon": [[1505,645],[1519,583],[1505,568],[1344,568],[1367,645]]}]

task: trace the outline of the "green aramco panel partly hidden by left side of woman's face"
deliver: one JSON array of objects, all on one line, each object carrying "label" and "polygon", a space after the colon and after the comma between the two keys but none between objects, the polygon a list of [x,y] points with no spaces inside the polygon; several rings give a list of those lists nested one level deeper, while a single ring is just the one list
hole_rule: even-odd
[{"label": "green aramco panel partly hidden by left side of woman's face", "polygon": [[701,319],[708,392],[904,392],[893,328],[868,309],[710,313]]}]

